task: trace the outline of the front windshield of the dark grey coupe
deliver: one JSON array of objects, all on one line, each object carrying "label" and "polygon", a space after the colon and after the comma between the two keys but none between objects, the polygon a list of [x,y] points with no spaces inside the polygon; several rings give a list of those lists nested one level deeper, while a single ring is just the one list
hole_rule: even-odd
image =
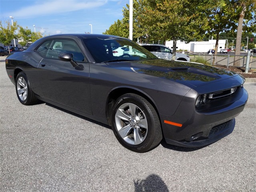
[{"label": "front windshield of the dark grey coupe", "polygon": [[125,38],[88,38],[83,42],[97,63],[157,59],[142,46]]}]

